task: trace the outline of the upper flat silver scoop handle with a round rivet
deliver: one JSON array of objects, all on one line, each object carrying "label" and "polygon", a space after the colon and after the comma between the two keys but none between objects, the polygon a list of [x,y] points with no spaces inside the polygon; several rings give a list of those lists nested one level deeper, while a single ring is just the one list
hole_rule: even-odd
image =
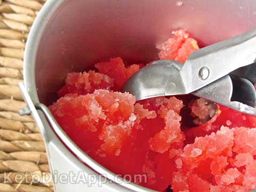
[{"label": "upper flat silver scoop handle with a round rivet", "polygon": [[[180,70],[187,93],[196,91],[237,68],[250,65],[256,58],[256,28],[193,52]],[[209,74],[201,78],[202,68]],[[200,72],[199,72],[200,71]]]}]

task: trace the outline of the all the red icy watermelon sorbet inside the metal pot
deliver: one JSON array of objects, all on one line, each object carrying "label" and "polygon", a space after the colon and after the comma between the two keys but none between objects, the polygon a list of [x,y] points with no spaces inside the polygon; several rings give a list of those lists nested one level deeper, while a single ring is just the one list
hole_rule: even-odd
[{"label": "all the red icy watermelon sorbet inside the metal pot", "polygon": [[[156,48],[159,59],[180,62],[199,49],[183,29]],[[49,108],[95,161],[116,174],[145,174],[146,180],[133,179],[138,185],[175,192],[256,189],[256,117],[192,95],[135,102],[120,91],[146,65],[111,58],[95,70],[69,73]]]}]

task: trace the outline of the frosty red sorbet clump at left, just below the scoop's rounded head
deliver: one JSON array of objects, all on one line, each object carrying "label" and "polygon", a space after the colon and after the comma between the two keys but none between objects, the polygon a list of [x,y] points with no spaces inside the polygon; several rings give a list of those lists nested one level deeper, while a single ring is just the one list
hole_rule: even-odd
[{"label": "frosty red sorbet clump at left, just below the scoop's rounded head", "polygon": [[99,129],[99,139],[104,141],[101,149],[114,154],[135,124],[134,103],[129,93],[95,90],[93,94],[62,97],[50,109],[67,131],[75,131],[76,127],[92,132]]}]

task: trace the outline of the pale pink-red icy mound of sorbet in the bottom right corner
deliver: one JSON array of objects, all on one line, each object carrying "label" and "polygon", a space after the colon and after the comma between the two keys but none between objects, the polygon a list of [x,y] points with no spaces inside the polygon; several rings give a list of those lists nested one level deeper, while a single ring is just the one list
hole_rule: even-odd
[{"label": "pale pink-red icy mound of sorbet in the bottom right corner", "polygon": [[242,153],[244,143],[250,141],[240,142],[236,135],[239,132],[245,137],[253,130],[222,126],[217,133],[196,138],[193,144],[185,146],[177,157],[182,159],[182,167],[174,173],[172,189],[190,192],[255,189],[255,160],[252,153]]}]

